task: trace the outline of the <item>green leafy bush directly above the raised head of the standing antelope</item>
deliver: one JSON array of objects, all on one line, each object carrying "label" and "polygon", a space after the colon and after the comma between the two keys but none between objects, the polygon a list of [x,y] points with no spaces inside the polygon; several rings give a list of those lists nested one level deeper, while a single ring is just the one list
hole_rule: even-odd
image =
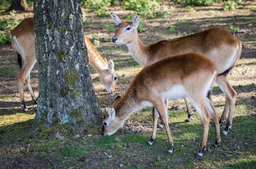
[{"label": "green leafy bush directly above the raised head of the standing antelope", "polygon": [[125,9],[134,10],[143,18],[154,18],[159,10],[159,0],[123,0]]}]

